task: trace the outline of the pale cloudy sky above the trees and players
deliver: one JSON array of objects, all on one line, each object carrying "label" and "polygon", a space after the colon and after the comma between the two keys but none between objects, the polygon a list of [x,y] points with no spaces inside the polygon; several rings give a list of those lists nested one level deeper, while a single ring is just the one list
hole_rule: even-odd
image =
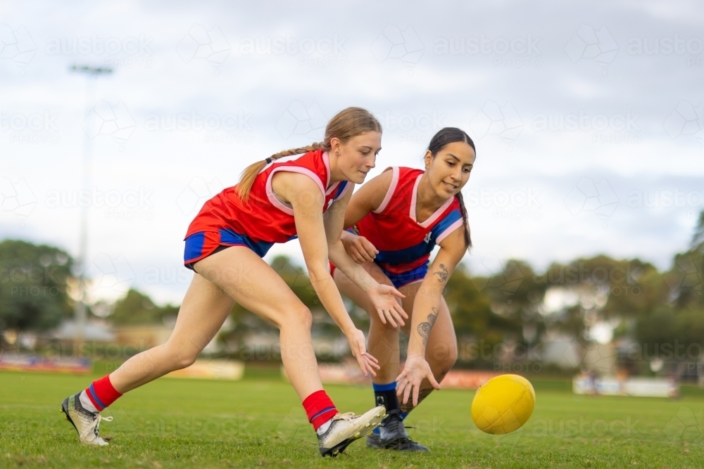
[{"label": "pale cloudy sky above the trees and players", "polygon": [[695,1],[4,1],[0,23],[0,239],[77,255],[87,203],[96,296],[180,302],[203,202],[348,105],[384,127],[372,174],[420,167],[441,127],[472,136],[475,271],[598,253],[665,269],[704,207]]}]

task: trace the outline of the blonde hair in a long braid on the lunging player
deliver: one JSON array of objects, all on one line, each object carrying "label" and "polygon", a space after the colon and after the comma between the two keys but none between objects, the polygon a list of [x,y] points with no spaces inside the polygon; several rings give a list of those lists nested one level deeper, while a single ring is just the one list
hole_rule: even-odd
[{"label": "blonde hair in a long braid on the lunging player", "polygon": [[246,167],[242,172],[239,182],[237,183],[237,193],[242,200],[249,200],[249,192],[254,184],[254,179],[262,169],[270,162],[278,160],[284,156],[301,155],[320,148],[325,151],[332,149],[330,141],[336,138],[342,143],[346,143],[352,137],[364,134],[368,131],[382,131],[382,124],[366,109],[363,108],[346,108],[335,115],[325,127],[325,139],[322,142],[315,142],[312,145],[302,146],[300,148],[291,148],[291,150],[279,151],[271,155],[266,160],[258,161]]}]

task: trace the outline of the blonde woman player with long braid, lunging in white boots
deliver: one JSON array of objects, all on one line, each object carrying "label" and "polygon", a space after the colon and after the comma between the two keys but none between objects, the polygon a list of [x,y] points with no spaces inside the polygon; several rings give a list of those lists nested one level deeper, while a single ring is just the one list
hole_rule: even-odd
[{"label": "blonde woman player with long braid, lunging in white boots", "polygon": [[327,262],[329,256],[355,278],[379,314],[408,317],[396,301],[403,295],[377,283],[347,255],[340,240],[350,189],[375,166],[381,132],[366,110],[347,108],[328,122],[325,141],[250,165],[237,186],[203,205],[185,238],[184,264],[196,274],[169,340],[63,401],[62,410],[81,442],[107,444],[98,436],[100,411],[125,392],[192,364],[234,302],[279,328],[284,368],[318,434],[322,456],[344,451],[379,424],[386,415],[382,406],[362,416],[337,411],[320,383],[310,311],[262,257],[274,243],[298,237],[315,293],[345,333],[363,373],[374,375],[377,360],[366,352],[364,334],[348,316]]}]

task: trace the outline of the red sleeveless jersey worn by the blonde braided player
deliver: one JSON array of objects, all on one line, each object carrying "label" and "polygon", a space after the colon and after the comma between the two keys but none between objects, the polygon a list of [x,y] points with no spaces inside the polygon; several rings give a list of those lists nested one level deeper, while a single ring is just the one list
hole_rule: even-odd
[{"label": "red sleeveless jersey worn by the blonde braided player", "polygon": [[208,200],[191,221],[185,238],[200,232],[232,231],[249,236],[256,243],[286,243],[296,238],[294,210],[279,200],[271,187],[272,177],[279,171],[306,174],[313,179],[325,195],[323,212],[352,186],[349,181],[329,184],[330,162],[322,148],[279,158],[256,176],[247,202],[239,197],[237,186],[225,188]]}]

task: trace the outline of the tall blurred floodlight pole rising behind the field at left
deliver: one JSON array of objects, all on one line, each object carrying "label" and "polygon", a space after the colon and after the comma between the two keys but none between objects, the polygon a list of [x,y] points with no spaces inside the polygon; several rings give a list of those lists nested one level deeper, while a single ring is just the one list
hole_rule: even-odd
[{"label": "tall blurred floodlight pole rising behind the field at left", "polygon": [[[100,75],[109,75],[113,72],[111,68],[89,67],[88,65],[73,65],[70,70],[82,73],[86,76],[86,115],[83,120],[85,138],[83,141],[83,193],[90,193],[91,162],[93,153],[92,119],[90,113],[95,105],[95,82]],[[77,200],[84,200],[77,197]],[[92,198],[91,198],[92,203]],[[81,207],[80,238],[78,246],[78,301],[74,310],[76,321],[76,333],[74,335],[74,347],[76,355],[83,345],[86,327],[86,284],[85,271],[87,269],[88,257],[88,210],[90,203],[85,203]]]}]

